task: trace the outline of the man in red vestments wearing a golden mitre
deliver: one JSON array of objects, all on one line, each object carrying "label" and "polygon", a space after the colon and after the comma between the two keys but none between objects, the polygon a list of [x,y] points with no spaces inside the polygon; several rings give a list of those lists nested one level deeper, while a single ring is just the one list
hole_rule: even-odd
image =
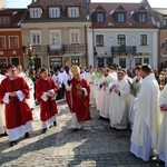
[{"label": "man in red vestments wearing a golden mitre", "polygon": [[80,69],[78,66],[71,67],[72,79],[68,80],[66,89],[67,104],[72,115],[71,128],[78,130],[82,127],[82,121],[90,120],[89,97],[90,86],[86,79],[80,78]]}]

